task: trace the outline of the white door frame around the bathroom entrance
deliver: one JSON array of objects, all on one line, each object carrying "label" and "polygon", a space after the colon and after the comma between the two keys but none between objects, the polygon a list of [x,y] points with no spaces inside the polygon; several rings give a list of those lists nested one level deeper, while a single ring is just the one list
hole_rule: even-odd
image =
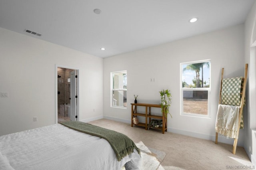
[{"label": "white door frame around the bathroom entrance", "polygon": [[77,78],[77,84],[76,84],[76,91],[77,91],[77,96],[78,98],[76,99],[76,104],[77,104],[77,110],[76,110],[76,115],[77,119],[76,121],[79,121],[79,69],[76,67],[69,67],[66,65],[58,65],[55,64],[55,124],[58,123],[58,67],[64,68],[64,69],[73,69],[76,70],[76,74],[78,76]]}]

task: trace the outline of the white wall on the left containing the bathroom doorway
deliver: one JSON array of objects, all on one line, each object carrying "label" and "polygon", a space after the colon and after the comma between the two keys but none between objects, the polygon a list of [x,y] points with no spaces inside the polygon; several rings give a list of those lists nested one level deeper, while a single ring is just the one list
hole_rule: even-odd
[{"label": "white wall on the left containing the bathroom doorway", "polygon": [[0,135],[55,124],[56,64],[79,69],[80,120],[103,117],[102,58],[0,28]]}]

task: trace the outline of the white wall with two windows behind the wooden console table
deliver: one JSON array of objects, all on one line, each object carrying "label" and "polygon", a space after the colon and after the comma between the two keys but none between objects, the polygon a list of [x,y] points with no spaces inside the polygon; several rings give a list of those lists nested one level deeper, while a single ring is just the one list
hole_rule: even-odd
[{"label": "white wall with two windows behind the wooden console table", "polygon": [[[211,59],[210,119],[180,115],[180,63]],[[244,75],[244,25],[211,32],[104,59],[104,117],[130,123],[133,95],[138,103],[160,102],[159,91],[172,93],[168,131],[215,140],[221,69],[225,77]],[[127,70],[127,109],[110,107],[110,72]],[[155,82],[150,82],[155,78]],[[238,145],[243,144],[240,130]],[[219,135],[219,142],[233,144]]]}]

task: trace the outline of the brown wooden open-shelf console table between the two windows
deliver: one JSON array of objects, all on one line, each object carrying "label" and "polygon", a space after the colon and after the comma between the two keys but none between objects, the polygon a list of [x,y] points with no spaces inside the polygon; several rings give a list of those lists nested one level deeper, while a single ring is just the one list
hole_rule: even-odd
[{"label": "brown wooden open-shelf console table between the two windows", "polygon": [[[131,103],[131,105],[132,105],[132,118],[137,116],[145,117],[145,123],[138,123],[136,124],[136,126],[145,127],[145,129],[148,130],[148,126],[149,126],[148,123],[150,123],[151,118],[162,119],[163,121],[162,127],[160,126],[158,128],[154,128],[154,127],[150,127],[150,128],[162,130],[163,134],[165,131],[167,131],[167,119],[166,119],[165,113],[162,113],[162,116],[151,115],[151,107],[156,107],[161,109],[161,105],[146,104],[146,103]],[[145,107],[145,113],[137,113],[137,106]],[[133,125],[135,124],[132,121],[131,127],[133,127]]]}]

